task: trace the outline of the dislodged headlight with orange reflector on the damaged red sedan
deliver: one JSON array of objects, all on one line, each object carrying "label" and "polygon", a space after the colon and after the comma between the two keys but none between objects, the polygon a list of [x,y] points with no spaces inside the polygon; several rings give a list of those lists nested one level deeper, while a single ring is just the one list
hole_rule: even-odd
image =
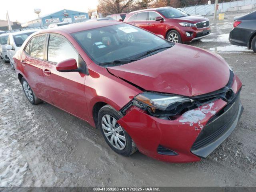
[{"label": "dislodged headlight with orange reflector on the damaged red sedan", "polygon": [[148,106],[151,114],[154,113],[159,116],[166,114],[170,116],[176,115],[194,104],[192,99],[184,96],[152,92],[138,94],[134,99]]}]

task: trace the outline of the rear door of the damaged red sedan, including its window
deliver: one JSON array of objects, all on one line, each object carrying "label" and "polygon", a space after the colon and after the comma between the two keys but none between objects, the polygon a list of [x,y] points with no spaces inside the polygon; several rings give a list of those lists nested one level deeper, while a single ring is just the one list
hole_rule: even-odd
[{"label": "rear door of the damaged red sedan, including its window", "polygon": [[44,76],[42,67],[44,64],[44,45],[47,34],[34,36],[27,43],[24,52],[24,58],[20,62],[21,71],[23,72],[28,84],[37,97],[49,102],[49,97],[44,92]]}]

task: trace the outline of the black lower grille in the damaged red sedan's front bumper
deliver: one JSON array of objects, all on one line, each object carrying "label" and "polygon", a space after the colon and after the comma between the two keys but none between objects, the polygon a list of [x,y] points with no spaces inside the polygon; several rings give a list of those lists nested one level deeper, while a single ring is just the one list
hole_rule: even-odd
[{"label": "black lower grille in the damaged red sedan's front bumper", "polygon": [[208,121],[192,145],[191,151],[203,148],[222,136],[236,120],[239,104],[240,92],[234,97],[232,102]]}]

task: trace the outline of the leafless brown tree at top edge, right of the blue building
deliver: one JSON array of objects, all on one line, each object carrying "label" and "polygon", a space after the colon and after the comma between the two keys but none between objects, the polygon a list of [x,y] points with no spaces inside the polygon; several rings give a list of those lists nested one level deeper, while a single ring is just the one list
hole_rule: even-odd
[{"label": "leafless brown tree at top edge, right of the blue building", "polygon": [[98,11],[103,15],[130,11],[132,0],[99,0]]}]

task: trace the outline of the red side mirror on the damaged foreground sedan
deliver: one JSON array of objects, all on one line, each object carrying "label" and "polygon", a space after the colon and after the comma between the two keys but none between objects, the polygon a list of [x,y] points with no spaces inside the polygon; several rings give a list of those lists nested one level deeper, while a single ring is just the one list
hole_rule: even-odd
[{"label": "red side mirror on the damaged foreground sedan", "polygon": [[60,72],[80,72],[80,69],[77,68],[76,60],[73,58],[58,62],[56,70]]}]

